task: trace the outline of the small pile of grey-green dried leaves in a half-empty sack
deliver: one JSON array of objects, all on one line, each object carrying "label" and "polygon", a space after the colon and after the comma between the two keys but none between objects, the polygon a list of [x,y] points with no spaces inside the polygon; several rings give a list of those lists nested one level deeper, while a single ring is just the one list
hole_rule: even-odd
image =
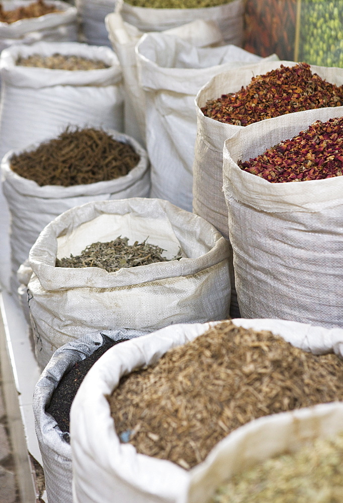
[{"label": "small pile of grey-green dried leaves in a half-empty sack", "polygon": [[[114,273],[123,267],[146,266],[155,262],[168,262],[162,257],[163,248],[145,241],[128,244],[128,237],[118,236],[113,241],[96,242],[87,246],[80,255],[56,259],[56,267],[100,267]],[[180,253],[171,260],[181,259]]]}]

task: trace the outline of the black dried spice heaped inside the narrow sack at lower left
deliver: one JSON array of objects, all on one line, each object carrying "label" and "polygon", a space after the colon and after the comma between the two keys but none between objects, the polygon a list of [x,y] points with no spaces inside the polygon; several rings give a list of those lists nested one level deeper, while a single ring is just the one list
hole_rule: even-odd
[{"label": "black dried spice heaped inside the narrow sack at lower left", "polygon": [[127,341],[127,339],[113,341],[105,335],[102,337],[104,343],[99,349],[84,360],[76,362],[73,367],[63,375],[51,395],[49,405],[46,407],[46,412],[53,416],[59,429],[63,433],[63,439],[68,443],[70,440],[70,408],[85,375],[108,349],[118,343]]}]

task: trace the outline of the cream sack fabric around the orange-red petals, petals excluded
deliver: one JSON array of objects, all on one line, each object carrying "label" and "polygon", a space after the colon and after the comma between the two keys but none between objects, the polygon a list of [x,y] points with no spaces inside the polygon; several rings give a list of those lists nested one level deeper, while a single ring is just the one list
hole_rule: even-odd
[{"label": "cream sack fabric around the orange-red petals, petals excluded", "polygon": [[[199,91],[196,97],[197,138],[193,164],[193,211],[211,222],[227,239],[229,238],[228,215],[223,194],[223,146],[227,138],[246,126],[225,124],[205,117],[201,108],[208,100],[219,98],[222,94],[235,93],[247,86],[251,78],[279,68],[281,64],[293,66],[293,61],[278,61],[272,55],[260,63],[228,70],[213,78]],[[342,68],[311,66],[328,82],[338,86],[343,83]],[[298,112],[296,112],[298,113]],[[262,123],[262,121],[260,122]],[[258,123],[258,124],[260,124]],[[231,316],[238,316],[238,304],[234,290],[233,267],[231,266],[232,310]],[[265,317],[265,316],[264,316]]]}]

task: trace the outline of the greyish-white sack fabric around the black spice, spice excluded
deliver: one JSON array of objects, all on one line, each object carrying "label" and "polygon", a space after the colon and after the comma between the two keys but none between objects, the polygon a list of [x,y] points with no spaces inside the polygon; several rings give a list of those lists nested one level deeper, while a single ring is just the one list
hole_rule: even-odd
[{"label": "greyish-white sack fabric around the black spice, spice excluded", "polygon": [[[55,418],[45,411],[54,390],[63,375],[77,362],[91,356],[104,343],[102,334],[113,341],[132,339],[143,334],[139,330],[107,330],[86,334],[77,341],[65,344],[55,351],[40,376],[33,395],[35,430],[42,455],[46,493],[52,503],[72,503],[71,447]],[[122,343],[121,343],[122,344]]]}]

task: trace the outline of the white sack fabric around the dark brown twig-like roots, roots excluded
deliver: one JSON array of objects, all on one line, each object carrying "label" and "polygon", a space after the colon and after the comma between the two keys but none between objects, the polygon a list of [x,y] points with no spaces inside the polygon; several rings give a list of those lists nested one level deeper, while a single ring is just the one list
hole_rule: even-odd
[{"label": "white sack fabric around the dark brown twig-like roots, roots excluded", "polygon": [[[16,292],[19,284],[17,270],[28,258],[31,246],[41,230],[54,218],[74,206],[89,201],[147,197],[150,192],[150,173],[147,153],[140,144],[129,136],[113,130],[108,134],[131,145],[140,156],[138,164],[125,176],[105,182],[96,182],[70,187],[43,185],[21,177],[11,169],[11,157],[19,151],[11,150],[1,164],[3,191],[10,209],[11,245],[11,290]],[[25,150],[33,150],[38,144]]]}]

